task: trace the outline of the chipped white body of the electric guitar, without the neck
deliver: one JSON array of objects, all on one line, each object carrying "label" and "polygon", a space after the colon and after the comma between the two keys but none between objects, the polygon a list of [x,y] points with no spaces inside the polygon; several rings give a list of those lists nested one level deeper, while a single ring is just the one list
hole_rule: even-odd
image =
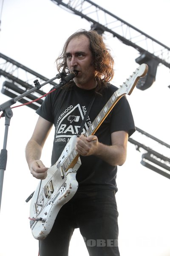
[{"label": "chipped white body of the electric guitar, without the neck", "polygon": [[71,137],[57,163],[48,169],[48,176],[40,181],[34,192],[30,206],[30,227],[35,239],[48,236],[59,210],[77,191],[76,172],[81,165],[80,159],[67,172],[62,169],[62,163],[74,148],[76,137]]}]

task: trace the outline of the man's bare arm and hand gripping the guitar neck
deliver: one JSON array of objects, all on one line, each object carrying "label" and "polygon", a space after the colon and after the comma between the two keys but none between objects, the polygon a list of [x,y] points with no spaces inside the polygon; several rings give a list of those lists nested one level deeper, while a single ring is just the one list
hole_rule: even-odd
[{"label": "man's bare arm and hand gripping the guitar neck", "polygon": [[111,134],[112,145],[99,143],[96,136],[85,137],[81,135],[77,139],[76,150],[82,156],[96,155],[112,166],[122,166],[127,155],[128,133],[116,131]]}]

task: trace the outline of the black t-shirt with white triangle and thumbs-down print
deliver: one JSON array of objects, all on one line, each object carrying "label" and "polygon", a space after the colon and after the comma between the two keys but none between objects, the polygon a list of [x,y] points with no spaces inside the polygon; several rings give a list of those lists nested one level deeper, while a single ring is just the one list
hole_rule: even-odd
[{"label": "black t-shirt with white triangle and thumbs-down print", "polygon": [[[78,133],[94,96],[95,100],[85,122],[83,134],[117,89],[117,87],[108,84],[100,95],[96,94],[94,89],[83,90],[73,82],[70,87],[59,88],[46,96],[37,113],[49,122],[54,123],[55,126],[51,165],[57,162],[68,140]],[[119,99],[95,135],[99,142],[111,145],[111,133],[115,131],[127,131],[129,136],[135,131],[133,116],[125,96]],[[111,166],[94,155],[80,156],[80,159],[82,164],[77,170],[76,176],[79,190],[94,187],[117,189],[117,166]]]}]

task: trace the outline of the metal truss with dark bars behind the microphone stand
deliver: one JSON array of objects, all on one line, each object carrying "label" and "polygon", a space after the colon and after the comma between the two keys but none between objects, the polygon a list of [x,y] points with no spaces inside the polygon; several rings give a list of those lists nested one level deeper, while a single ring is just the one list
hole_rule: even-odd
[{"label": "metal truss with dark bars behind the microphone stand", "polygon": [[[36,79],[39,79],[40,84],[49,80],[48,78],[29,69],[28,67],[23,66],[19,62],[14,61],[6,55],[3,55],[2,53],[0,53],[0,75],[7,79],[7,81],[3,83],[1,92],[11,98],[15,98],[27,90],[32,89],[34,87],[32,84],[34,84]],[[51,81],[49,85],[52,87],[57,84]],[[47,93],[50,89],[51,88],[46,87],[46,91],[37,90],[31,95],[28,95],[27,98],[24,97],[23,99],[20,99],[19,102],[24,104],[30,100],[33,101],[38,99],[40,96]],[[29,107],[37,110],[42,102],[42,99],[38,99],[37,102],[31,103]]]}]

